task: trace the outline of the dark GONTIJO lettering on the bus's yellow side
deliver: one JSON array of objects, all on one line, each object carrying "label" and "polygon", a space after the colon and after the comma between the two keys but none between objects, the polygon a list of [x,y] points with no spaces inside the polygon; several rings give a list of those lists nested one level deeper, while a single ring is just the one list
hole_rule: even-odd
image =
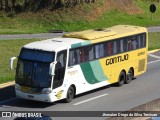
[{"label": "dark GONTIJO lettering on the bus's yellow side", "polygon": [[114,64],[114,63],[119,63],[125,60],[129,59],[129,55],[126,54],[124,56],[118,56],[118,57],[114,57],[114,58],[110,58],[106,60],[106,65],[110,65],[110,64]]}]

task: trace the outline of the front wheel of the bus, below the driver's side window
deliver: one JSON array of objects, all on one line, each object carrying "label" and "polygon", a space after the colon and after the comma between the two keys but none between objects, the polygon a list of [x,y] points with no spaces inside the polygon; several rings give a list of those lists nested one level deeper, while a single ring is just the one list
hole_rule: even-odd
[{"label": "front wheel of the bus, below the driver's side window", "polygon": [[69,103],[72,101],[72,99],[74,98],[74,88],[72,86],[69,87],[68,91],[67,91],[67,96],[65,99],[65,102]]}]

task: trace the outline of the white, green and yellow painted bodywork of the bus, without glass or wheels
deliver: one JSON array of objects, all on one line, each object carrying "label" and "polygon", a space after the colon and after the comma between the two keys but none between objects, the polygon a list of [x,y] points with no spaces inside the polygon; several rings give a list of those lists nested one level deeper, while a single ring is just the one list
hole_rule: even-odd
[{"label": "white, green and yellow painted bodywork of the bus, without glass or wheels", "polygon": [[[101,32],[103,32],[103,34],[101,34]],[[94,36],[92,36],[93,33]],[[113,46],[115,45],[114,41],[116,41],[116,44],[121,44],[121,39],[123,39],[123,42],[125,42],[126,40],[128,41],[129,37],[135,37],[134,39],[137,40],[136,44],[140,44],[138,43],[141,42],[140,37],[144,37],[144,35],[146,37],[146,45],[139,48],[137,48],[136,46],[136,49],[132,48],[132,50],[126,50],[123,52],[120,52],[121,48],[116,48],[119,51],[117,50],[117,53],[113,54],[113,52],[115,52],[115,48],[113,49]],[[112,42],[112,47],[110,49],[109,42]],[[36,46],[37,43],[39,43],[40,46]],[[48,44],[49,46],[47,47]],[[101,57],[97,57],[96,50],[98,47],[96,48],[96,45],[99,45],[98,49],[100,49],[101,44],[103,48],[105,45],[107,45],[107,47],[103,51],[107,51],[107,53],[106,56],[103,55]],[[128,45],[129,43],[125,44]],[[21,89],[23,88],[23,86],[16,84],[16,86],[18,86],[16,87],[16,95],[19,98],[44,102],[54,102],[57,100],[65,99],[67,91],[71,85],[75,87],[75,94],[77,95],[118,82],[118,78],[122,70],[126,72],[126,75],[128,74],[130,68],[133,68],[134,76],[144,73],[147,67],[148,34],[146,28],[122,25],[106,29],[105,31],[89,30],[87,32],[83,31],[73,34],[71,33],[62,38],[50,39],[47,42],[42,41],[35,42],[33,44],[31,43],[25,45],[25,48],[35,48],[38,50],[42,49],[44,51],[50,52],[54,51],[56,53],[55,59],[58,52],[67,50],[66,70],[61,86],[55,89],[51,88],[52,90],[50,91],[50,93],[44,94],[43,91],[45,91],[45,88],[42,90],[42,93],[30,93],[29,91],[23,91]],[[87,58],[88,61],[84,61],[83,59],[85,58],[82,58],[83,54],[86,54],[84,52],[86,48],[93,49],[91,59]],[[81,62],[70,65],[70,59],[73,57],[70,57],[70,53],[72,50],[80,50],[79,56],[81,56]],[[112,54],[109,55],[109,51],[112,52]],[[101,53],[102,52],[100,52],[99,54]],[[90,53],[88,53],[88,56],[89,54]]]}]

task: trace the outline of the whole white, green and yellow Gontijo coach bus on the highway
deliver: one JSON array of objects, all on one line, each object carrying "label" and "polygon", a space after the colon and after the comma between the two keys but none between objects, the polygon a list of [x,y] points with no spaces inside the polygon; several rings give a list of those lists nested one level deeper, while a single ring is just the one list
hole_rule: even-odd
[{"label": "whole white, green and yellow Gontijo coach bus on the highway", "polygon": [[24,45],[15,75],[16,96],[43,102],[64,99],[110,84],[122,86],[147,67],[145,27],[117,25],[67,33]]}]

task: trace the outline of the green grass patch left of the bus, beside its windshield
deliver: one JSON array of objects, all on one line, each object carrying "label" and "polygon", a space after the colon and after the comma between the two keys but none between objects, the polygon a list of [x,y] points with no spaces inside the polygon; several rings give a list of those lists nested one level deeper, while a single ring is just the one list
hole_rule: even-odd
[{"label": "green grass patch left of the bus, beside its windshield", "polygon": [[36,40],[0,40],[0,83],[14,80],[15,70],[9,69],[10,58],[18,56],[23,45]]}]

